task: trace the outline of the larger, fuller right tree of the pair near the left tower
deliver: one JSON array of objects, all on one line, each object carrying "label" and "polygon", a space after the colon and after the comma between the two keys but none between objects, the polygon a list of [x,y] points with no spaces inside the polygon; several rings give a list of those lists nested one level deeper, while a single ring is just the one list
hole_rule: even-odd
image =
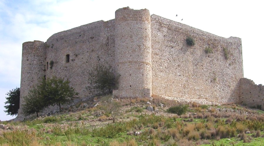
[{"label": "larger, fuller right tree of the pair near the left tower", "polygon": [[48,105],[57,104],[60,107],[65,103],[69,103],[78,95],[77,92],[74,91],[74,88],[70,87],[70,82],[68,80],[64,81],[64,79],[52,77],[51,79],[46,79],[46,88],[44,95],[46,103]]}]

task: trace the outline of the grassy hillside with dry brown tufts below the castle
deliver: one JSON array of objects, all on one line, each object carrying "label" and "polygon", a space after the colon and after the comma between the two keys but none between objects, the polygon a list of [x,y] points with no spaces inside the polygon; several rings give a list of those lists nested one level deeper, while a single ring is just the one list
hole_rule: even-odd
[{"label": "grassy hillside with dry brown tufts below the castle", "polygon": [[[263,145],[264,114],[238,106],[189,103],[178,116],[162,98],[113,99],[122,105],[112,123],[109,103],[82,101],[64,112],[23,122],[1,122],[0,146]],[[147,102],[154,111],[147,111]],[[99,105],[93,107],[96,102]],[[106,107],[106,108],[105,108]],[[187,106],[188,107],[188,106]],[[179,108],[179,107],[177,107]],[[104,109],[104,110],[101,110]],[[170,108],[172,109],[172,108]],[[249,134],[246,134],[250,131]]]}]

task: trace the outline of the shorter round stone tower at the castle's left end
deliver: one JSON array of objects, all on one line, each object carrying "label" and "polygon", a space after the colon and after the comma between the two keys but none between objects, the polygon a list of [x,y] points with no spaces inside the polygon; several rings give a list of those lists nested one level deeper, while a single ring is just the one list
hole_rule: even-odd
[{"label": "shorter round stone tower at the castle's left end", "polygon": [[23,97],[28,94],[32,86],[45,76],[46,47],[44,42],[34,40],[22,44],[20,106],[18,116],[23,115]]}]

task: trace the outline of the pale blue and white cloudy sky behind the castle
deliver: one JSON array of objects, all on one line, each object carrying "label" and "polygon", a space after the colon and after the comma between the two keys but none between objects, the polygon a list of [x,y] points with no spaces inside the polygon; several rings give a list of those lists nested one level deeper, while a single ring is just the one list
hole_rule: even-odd
[{"label": "pale blue and white cloudy sky behind the castle", "polygon": [[5,94],[20,86],[23,42],[45,42],[54,33],[114,19],[115,11],[126,6],[146,8],[150,14],[221,37],[241,38],[244,77],[264,84],[264,10],[260,1],[0,0],[0,120],[14,118],[6,116],[3,106]]}]

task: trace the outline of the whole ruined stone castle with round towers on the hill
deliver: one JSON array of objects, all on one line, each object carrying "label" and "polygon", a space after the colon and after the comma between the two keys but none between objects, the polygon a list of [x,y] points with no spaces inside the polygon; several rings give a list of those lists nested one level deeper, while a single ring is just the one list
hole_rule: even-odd
[{"label": "whole ruined stone castle with round towers on the hill", "polygon": [[[194,46],[187,45],[187,37]],[[20,104],[43,76],[68,79],[81,98],[92,96],[86,90],[89,74],[103,64],[120,75],[115,97],[263,107],[263,86],[243,78],[240,38],[150,16],[147,9],[121,8],[115,19],[55,33],[45,43],[25,42],[22,49]]]}]

